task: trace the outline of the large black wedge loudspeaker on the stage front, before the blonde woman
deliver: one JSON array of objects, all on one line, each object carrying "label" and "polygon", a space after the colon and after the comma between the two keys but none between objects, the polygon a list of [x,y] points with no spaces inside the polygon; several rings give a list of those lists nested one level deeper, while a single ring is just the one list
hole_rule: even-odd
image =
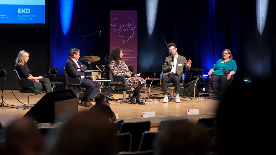
[{"label": "large black wedge loudspeaker on the stage front, before the blonde woman", "polygon": [[39,123],[62,121],[61,113],[78,113],[78,98],[71,89],[46,93],[24,116]]}]

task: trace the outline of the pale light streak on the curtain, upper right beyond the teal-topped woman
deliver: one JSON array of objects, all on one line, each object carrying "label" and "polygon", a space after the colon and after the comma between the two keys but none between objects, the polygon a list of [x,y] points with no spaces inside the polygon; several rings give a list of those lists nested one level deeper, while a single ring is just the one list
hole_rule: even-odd
[{"label": "pale light streak on the curtain, upper right beyond the teal-topped woman", "polygon": [[269,0],[256,0],[257,28],[261,35],[263,33],[263,29],[265,28],[268,2]]}]

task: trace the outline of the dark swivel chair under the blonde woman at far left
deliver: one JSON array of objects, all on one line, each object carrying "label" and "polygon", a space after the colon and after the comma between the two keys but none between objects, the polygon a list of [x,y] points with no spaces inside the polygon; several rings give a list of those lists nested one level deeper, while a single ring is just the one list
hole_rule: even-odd
[{"label": "dark swivel chair under the blonde woman at far left", "polygon": [[35,89],[34,80],[22,80],[20,78],[18,72],[15,69],[13,70],[13,73],[15,75],[17,86],[22,87],[21,89],[19,89],[19,92],[20,93],[33,94],[33,95],[28,96],[28,105],[23,110],[28,109],[28,108],[32,108],[32,106],[31,106],[31,96],[45,93],[45,91],[42,90],[42,89]]}]

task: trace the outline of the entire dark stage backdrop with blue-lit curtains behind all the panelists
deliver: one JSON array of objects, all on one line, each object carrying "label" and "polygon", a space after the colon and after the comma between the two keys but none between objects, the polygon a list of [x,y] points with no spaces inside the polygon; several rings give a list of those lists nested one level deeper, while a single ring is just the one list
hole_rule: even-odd
[{"label": "entire dark stage backdrop with blue-lit curtains behind all the panelists", "polygon": [[[17,88],[12,69],[20,50],[31,52],[28,66],[35,76],[46,74],[51,67],[58,67],[58,76],[64,76],[63,67],[71,48],[79,48],[81,57],[100,57],[91,67],[92,70],[96,70],[95,65],[102,68],[105,53],[110,52],[110,10],[138,10],[137,69],[141,77],[150,76],[151,72],[161,73],[165,57],[169,56],[168,51],[163,53],[164,38],[167,43],[176,43],[178,54],[191,59],[192,68],[202,68],[204,74],[221,58],[223,49],[229,48],[237,62],[236,79],[275,76],[276,1],[269,1],[262,35],[257,29],[254,0],[160,0],[151,35],[147,30],[145,0],[72,0],[72,19],[66,34],[60,18],[60,9],[66,8],[60,8],[60,1],[49,1],[48,28],[1,28],[0,69],[8,70],[11,88]],[[94,34],[99,29],[101,36],[85,38],[83,54],[80,36]],[[89,67],[88,63],[84,64]]]}]

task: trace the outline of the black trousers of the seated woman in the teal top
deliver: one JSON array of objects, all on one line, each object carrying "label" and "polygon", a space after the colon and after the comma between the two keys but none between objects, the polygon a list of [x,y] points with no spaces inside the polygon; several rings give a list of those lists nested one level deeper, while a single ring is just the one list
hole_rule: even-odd
[{"label": "black trousers of the seated woman in the teal top", "polygon": [[221,94],[226,94],[226,91],[228,89],[229,81],[227,80],[227,74],[223,75],[212,75],[210,79],[210,85],[213,89],[214,94],[218,94],[219,92]]}]

